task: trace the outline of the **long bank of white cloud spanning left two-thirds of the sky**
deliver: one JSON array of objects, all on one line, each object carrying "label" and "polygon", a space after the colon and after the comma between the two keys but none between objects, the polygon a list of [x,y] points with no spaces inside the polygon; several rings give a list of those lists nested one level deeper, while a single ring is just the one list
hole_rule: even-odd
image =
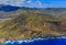
[{"label": "long bank of white cloud spanning left two-thirds of the sky", "polygon": [[41,7],[42,2],[40,0],[0,0],[0,4],[10,4],[18,7]]}]

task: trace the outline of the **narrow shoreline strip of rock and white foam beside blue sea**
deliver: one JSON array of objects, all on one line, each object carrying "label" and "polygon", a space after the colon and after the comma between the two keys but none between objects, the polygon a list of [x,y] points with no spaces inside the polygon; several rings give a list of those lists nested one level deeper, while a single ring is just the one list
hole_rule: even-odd
[{"label": "narrow shoreline strip of rock and white foam beside blue sea", "polygon": [[3,43],[0,43],[0,45],[3,45],[4,43],[13,43],[13,42],[33,42],[33,41],[37,41],[37,40],[48,40],[48,38],[66,38],[66,36],[62,36],[62,37],[47,37],[47,38],[33,38],[33,40],[21,40],[21,41],[6,41],[6,42],[3,42]]}]

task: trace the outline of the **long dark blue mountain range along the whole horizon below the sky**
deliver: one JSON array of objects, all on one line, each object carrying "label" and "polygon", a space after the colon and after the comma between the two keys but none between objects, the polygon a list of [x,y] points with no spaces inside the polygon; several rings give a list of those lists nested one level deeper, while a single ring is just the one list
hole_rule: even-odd
[{"label": "long dark blue mountain range along the whole horizon below the sky", "polygon": [[15,5],[6,5],[6,4],[0,4],[0,11],[6,11],[6,12],[10,12],[10,11],[16,11],[16,10],[32,10],[32,11],[62,11],[62,10],[66,10],[65,8],[28,8],[28,7],[15,7]]}]

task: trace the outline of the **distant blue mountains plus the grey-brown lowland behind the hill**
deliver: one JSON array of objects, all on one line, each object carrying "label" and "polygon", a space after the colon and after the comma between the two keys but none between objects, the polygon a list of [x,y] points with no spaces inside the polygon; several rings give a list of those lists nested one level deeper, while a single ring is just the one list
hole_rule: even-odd
[{"label": "distant blue mountains plus the grey-brown lowland behind the hill", "polygon": [[55,15],[55,16],[66,16],[66,9],[63,8],[26,8],[26,7],[13,7],[0,4],[0,19],[7,19],[18,15],[18,13],[23,11],[31,11],[34,13],[40,13],[43,15]]}]

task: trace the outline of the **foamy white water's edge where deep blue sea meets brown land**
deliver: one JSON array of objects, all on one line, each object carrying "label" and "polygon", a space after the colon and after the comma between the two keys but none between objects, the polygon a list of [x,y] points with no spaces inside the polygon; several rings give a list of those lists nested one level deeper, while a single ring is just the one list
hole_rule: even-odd
[{"label": "foamy white water's edge where deep blue sea meets brown land", "polygon": [[[66,36],[62,36],[62,37],[47,37],[47,38],[38,37],[38,38],[33,38],[33,40],[21,40],[21,41],[6,41],[3,44],[8,44],[8,43],[11,43],[11,44],[13,44],[13,43],[19,43],[19,44],[21,44],[21,43],[32,43],[32,42],[34,42],[34,41],[54,40],[54,38],[65,40]],[[2,44],[0,44],[0,45],[2,45]]]}]

